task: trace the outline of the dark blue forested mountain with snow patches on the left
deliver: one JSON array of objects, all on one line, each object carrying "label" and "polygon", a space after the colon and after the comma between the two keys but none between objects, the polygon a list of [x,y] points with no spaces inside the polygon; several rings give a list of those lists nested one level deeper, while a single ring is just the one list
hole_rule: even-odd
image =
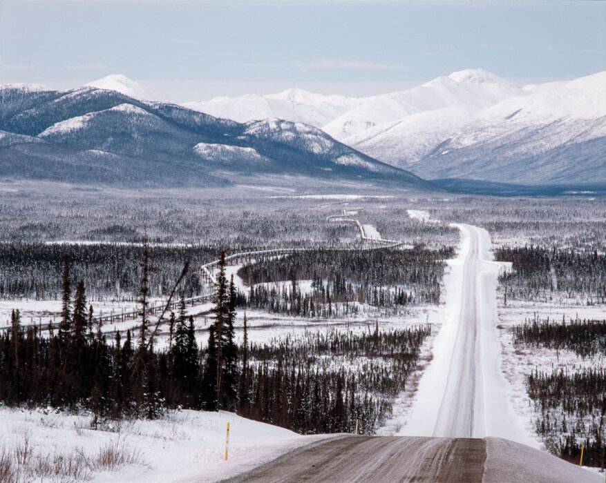
[{"label": "dark blue forested mountain with snow patches on the left", "polygon": [[439,188],[313,126],[240,124],[175,104],[85,86],[65,92],[0,85],[3,177],[128,186],[225,186],[274,177]]}]

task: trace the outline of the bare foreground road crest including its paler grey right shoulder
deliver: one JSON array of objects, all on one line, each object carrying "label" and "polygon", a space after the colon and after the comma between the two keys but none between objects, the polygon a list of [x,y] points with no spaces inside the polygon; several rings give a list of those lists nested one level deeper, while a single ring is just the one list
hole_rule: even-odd
[{"label": "bare foreground road crest including its paler grey right shoulder", "polygon": [[502,438],[345,436],[296,449],[225,483],[603,483],[560,458]]}]

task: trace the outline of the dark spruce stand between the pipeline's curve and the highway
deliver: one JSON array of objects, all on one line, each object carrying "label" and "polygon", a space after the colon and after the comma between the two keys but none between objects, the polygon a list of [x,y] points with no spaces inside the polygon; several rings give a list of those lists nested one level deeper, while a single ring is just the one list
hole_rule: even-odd
[{"label": "dark spruce stand between the pipeline's curve and the highway", "polygon": [[[444,259],[451,256],[451,248],[305,250],[247,264],[238,276],[251,286],[243,299],[249,307],[303,317],[346,317],[357,313],[357,304],[437,304]],[[311,292],[301,290],[301,279],[312,280]],[[259,285],[283,281],[290,284]]]}]

